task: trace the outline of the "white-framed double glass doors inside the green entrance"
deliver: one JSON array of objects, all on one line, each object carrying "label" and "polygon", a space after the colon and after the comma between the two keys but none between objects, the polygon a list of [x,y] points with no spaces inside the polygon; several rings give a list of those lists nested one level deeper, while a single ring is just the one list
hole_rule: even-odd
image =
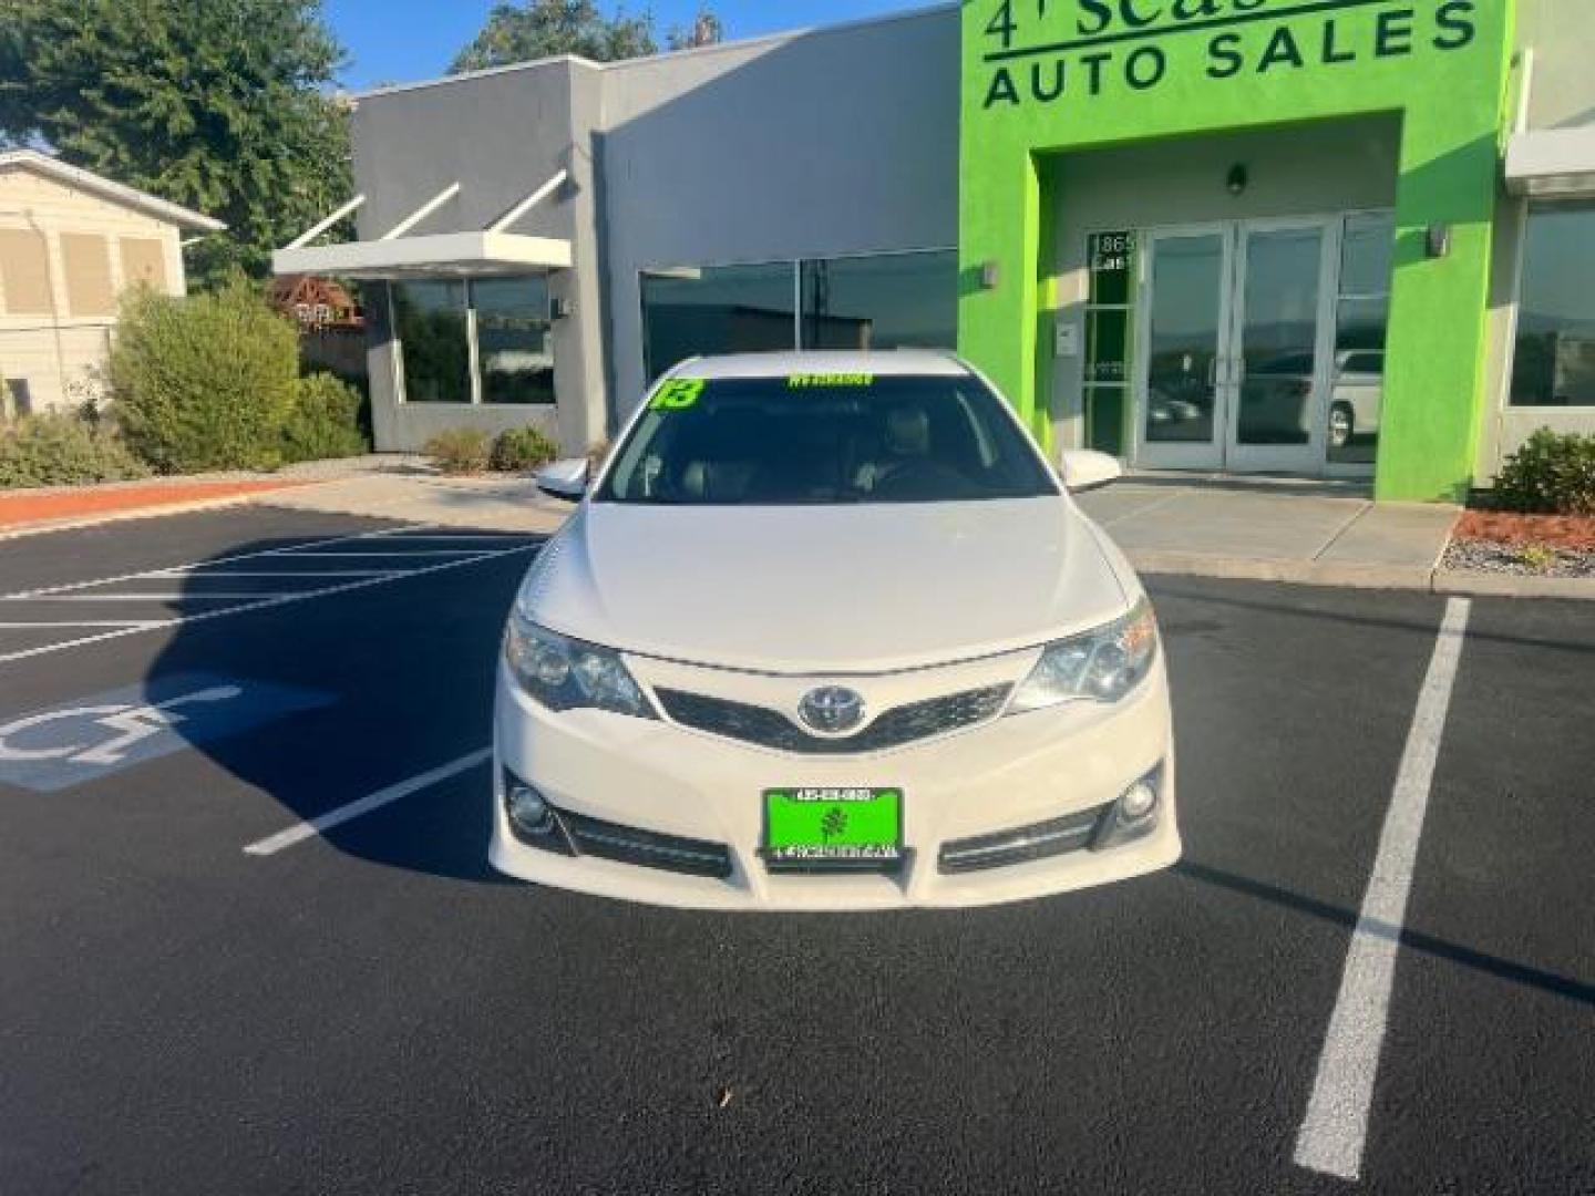
[{"label": "white-framed double glass doors inside the green entrance", "polygon": [[1137,464],[1322,472],[1335,241],[1329,220],[1147,236]]}]

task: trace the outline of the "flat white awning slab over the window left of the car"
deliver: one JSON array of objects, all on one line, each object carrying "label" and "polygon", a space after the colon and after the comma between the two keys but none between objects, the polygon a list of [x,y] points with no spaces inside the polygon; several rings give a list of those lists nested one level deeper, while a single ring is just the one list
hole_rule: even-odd
[{"label": "flat white awning slab over the window left of the car", "polygon": [[303,246],[271,255],[276,274],[349,279],[491,277],[569,268],[569,241],[493,231]]}]

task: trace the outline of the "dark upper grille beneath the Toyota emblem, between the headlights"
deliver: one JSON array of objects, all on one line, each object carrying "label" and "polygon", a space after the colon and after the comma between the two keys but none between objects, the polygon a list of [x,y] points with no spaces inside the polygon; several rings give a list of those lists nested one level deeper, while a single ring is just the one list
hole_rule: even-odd
[{"label": "dark upper grille beneath the Toyota emblem, between the headlights", "polygon": [[853,756],[864,751],[887,751],[906,743],[946,735],[997,718],[1013,686],[987,686],[963,694],[911,702],[893,706],[857,735],[820,738],[810,735],[778,710],[743,702],[659,689],[665,714],[683,727],[705,730],[761,748],[791,751],[804,756]]}]

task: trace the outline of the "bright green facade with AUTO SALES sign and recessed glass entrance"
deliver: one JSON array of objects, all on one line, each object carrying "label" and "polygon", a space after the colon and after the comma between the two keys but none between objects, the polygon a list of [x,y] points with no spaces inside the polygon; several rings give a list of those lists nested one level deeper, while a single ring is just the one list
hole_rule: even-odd
[{"label": "bright green facade with AUTO SALES sign and recessed glass entrance", "polygon": [[1515,78],[1512,0],[965,3],[959,348],[1050,442],[1459,499]]}]

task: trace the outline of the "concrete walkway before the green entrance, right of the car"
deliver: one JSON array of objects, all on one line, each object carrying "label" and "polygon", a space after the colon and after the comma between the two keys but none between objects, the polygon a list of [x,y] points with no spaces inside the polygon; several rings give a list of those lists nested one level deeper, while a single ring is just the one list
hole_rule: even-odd
[{"label": "concrete walkway before the green entrance, right of the car", "polygon": [[1137,569],[1317,585],[1431,588],[1458,507],[1365,486],[1132,477],[1080,498]]}]

